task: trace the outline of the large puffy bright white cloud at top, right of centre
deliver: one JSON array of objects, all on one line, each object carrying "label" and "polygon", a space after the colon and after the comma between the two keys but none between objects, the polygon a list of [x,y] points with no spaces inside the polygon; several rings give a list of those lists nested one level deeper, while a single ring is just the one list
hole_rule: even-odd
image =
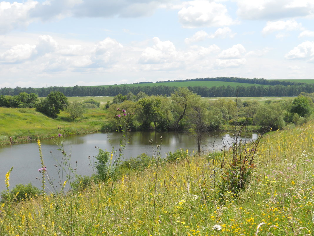
[{"label": "large puffy bright white cloud at top, right of centre", "polygon": [[234,21],[228,15],[226,6],[221,3],[204,0],[195,0],[188,3],[190,6],[183,7],[178,12],[179,21],[185,28],[234,24]]}]

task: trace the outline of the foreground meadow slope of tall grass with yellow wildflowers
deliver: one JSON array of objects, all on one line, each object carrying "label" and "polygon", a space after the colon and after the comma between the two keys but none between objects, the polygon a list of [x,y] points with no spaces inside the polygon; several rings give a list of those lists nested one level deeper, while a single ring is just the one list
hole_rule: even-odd
[{"label": "foreground meadow slope of tall grass with yellow wildflowers", "polygon": [[[152,145],[155,163],[140,172],[124,169],[82,189],[67,178],[61,192],[43,187],[39,197],[4,201],[0,235],[313,235],[313,133],[307,124],[264,136],[254,161],[242,163],[250,174],[238,191],[237,181],[230,184],[238,180],[235,149],[200,156],[183,150],[176,161],[158,162],[162,143],[153,140],[161,144]],[[236,157],[251,151],[246,146]],[[42,166],[44,186],[49,171],[44,160]],[[9,172],[5,181],[9,186]]]}]

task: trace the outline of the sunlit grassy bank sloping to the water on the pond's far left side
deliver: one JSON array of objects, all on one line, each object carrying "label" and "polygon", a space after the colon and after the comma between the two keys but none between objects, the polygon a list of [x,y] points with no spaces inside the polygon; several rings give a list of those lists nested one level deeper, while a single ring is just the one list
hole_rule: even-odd
[{"label": "sunlit grassy bank sloping to the water on the pond's far left side", "polygon": [[[34,108],[0,107],[0,145],[27,143],[62,135],[77,135],[100,131],[107,120],[106,110],[88,109],[83,118],[72,121],[65,112],[56,119]],[[10,139],[10,137],[12,139]]]}]

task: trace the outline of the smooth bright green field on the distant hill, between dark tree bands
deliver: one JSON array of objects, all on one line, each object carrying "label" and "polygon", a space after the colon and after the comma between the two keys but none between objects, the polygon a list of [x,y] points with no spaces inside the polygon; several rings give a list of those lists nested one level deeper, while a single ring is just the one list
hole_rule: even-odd
[{"label": "smooth bright green field on the distant hill, between dark tree bands", "polygon": [[104,85],[102,87],[109,86],[131,86],[131,87],[143,87],[143,86],[174,86],[174,87],[194,87],[194,86],[206,86],[206,87],[219,87],[228,85],[236,87],[236,86],[266,86],[269,85],[261,85],[261,84],[250,84],[250,83],[236,83],[236,82],[224,82],[224,81],[186,81],[186,82],[162,82],[162,83],[142,83],[142,84],[117,84],[117,85]]}]

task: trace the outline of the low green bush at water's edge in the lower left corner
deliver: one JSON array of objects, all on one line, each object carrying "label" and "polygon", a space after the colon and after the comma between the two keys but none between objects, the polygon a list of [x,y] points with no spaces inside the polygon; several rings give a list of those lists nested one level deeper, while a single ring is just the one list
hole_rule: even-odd
[{"label": "low green bush at water's edge in the lower left corner", "polygon": [[[38,196],[41,191],[33,186],[31,183],[23,185],[17,184],[10,193],[7,193],[6,190],[1,193],[1,202],[7,201],[8,199],[13,200],[14,202],[19,202],[22,199],[28,199],[30,197]],[[16,195],[16,196],[15,196]]]}]

